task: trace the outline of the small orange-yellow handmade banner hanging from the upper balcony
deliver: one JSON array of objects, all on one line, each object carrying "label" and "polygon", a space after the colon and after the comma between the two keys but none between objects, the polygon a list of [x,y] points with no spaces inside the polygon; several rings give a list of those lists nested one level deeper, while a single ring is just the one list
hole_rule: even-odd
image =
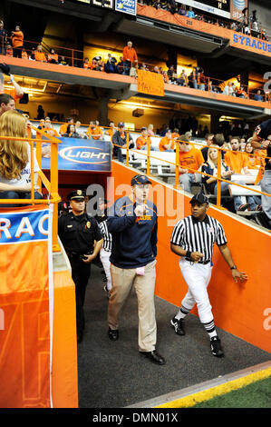
[{"label": "small orange-yellow handmade banner hanging from the upper balcony", "polygon": [[164,78],[162,74],[138,70],[138,91],[141,94],[164,96]]}]

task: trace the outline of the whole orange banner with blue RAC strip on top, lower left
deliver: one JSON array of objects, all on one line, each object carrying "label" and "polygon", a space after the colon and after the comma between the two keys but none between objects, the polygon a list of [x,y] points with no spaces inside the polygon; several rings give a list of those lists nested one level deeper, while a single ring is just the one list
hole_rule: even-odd
[{"label": "whole orange banner with blue RAC strip on top, lower left", "polygon": [[52,210],[0,211],[0,407],[52,406]]}]

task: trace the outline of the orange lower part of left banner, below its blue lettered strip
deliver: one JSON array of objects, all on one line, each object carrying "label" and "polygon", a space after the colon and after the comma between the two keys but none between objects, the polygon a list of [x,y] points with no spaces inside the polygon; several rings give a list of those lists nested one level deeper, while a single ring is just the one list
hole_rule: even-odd
[{"label": "orange lower part of left banner, below its blue lettered strip", "polygon": [[47,247],[1,244],[1,408],[50,407]]}]

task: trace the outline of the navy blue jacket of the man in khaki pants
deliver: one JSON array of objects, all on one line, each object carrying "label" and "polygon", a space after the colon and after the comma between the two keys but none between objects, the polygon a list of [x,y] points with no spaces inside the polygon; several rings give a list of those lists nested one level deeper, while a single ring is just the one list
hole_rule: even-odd
[{"label": "navy blue jacket of the man in khaki pants", "polygon": [[146,214],[134,214],[135,202],[121,197],[112,206],[107,219],[112,235],[110,261],[119,268],[137,268],[154,261],[157,254],[157,207],[146,202]]}]

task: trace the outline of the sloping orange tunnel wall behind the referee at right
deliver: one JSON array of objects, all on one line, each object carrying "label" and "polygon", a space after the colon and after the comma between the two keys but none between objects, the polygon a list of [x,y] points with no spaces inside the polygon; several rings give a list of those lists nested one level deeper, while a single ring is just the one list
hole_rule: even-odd
[{"label": "sloping orange tunnel wall behind the referee at right", "polygon": [[[130,184],[134,174],[135,171],[112,162],[115,188],[120,184]],[[111,197],[108,197],[111,201],[112,186],[111,184],[109,189]],[[179,270],[179,257],[170,251],[170,236],[174,224],[183,216],[190,214],[190,204],[189,197],[169,186],[165,192],[165,188],[166,185],[157,186],[153,181],[153,202],[158,205],[159,214],[162,213],[158,225],[156,294],[169,303],[180,306],[187,292],[187,285]],[[118,197],[121,197],[121,194],[116,198]],[[218,209],[209,207],[208,214],[222,223],[237,268],[248,275],[246,283],[235,283],[227,263],[215,245],[214,267],[208,285],[215,323],[228,333],[271,353],[270,327],[267,322],[267,313],[269,316],[271,313],[268,256],[270,235],[247,226],[246,223]],[[174,313],[176,309],[172,307],[172,315]],[[197,314],[197,309],[194,309],[193,313]]]}]

